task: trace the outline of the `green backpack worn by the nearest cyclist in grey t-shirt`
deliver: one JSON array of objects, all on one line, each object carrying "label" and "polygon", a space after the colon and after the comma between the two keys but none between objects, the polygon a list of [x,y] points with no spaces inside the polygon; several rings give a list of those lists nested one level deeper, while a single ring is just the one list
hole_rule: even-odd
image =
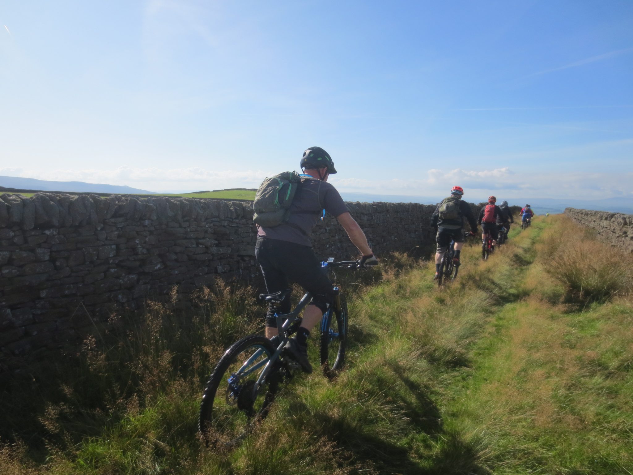
[{"label": "green backpack worn by the nearest cyclist in grey t-shirt", "polygon": [[273,227],[286,221],[299,184],[301,177],[297,172],[283,172],[261,182],[253,202],[253,222]]}]

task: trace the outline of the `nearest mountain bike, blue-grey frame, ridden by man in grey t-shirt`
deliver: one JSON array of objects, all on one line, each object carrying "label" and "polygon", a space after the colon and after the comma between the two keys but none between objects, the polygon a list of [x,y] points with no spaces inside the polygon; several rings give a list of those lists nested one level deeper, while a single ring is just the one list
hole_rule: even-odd
[{"label": "nearest mountain bike, blue-grey frame, ridden by man in grey t-shirt", "polygon": [[[360,261],[322,262],[326,270],[335,267],[360,268]],[[320,324],[320,360],[325,376],[335,377],[345,362],[348,338],[348,307],[341,289],[334,284],[334,303]],[[290,290],[260,294],[259,300],[277,310],[290,298]],[[301,372],[299,364],[284,350],[301,324],[299,314],[312,300],[307,292],[289,314],[275,312],[279,335],[265,338],[249,335],[236,341],[211,372],[202,395],[198,431],[206,445],[231,447],[268,415],[279,385]]]}]

